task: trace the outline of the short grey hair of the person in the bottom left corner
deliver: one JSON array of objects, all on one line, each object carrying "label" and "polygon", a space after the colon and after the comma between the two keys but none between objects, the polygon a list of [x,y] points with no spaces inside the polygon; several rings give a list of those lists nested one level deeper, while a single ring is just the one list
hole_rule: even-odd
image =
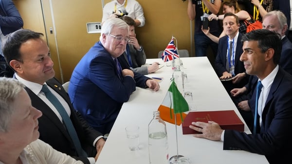
[{"label": "short grey hair of the person in the bottom left corner", "polygon": [[14,112],[12,104],[24,85],[16,79],[0,77],[0,132],[7,132]]}]

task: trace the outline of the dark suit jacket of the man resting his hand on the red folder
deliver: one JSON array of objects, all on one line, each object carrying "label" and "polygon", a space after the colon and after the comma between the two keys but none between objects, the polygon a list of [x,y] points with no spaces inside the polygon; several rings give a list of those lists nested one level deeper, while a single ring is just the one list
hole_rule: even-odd
[{"label": "dark suit jacket of the man resting his hand on the red folder", "polygon": [[[279,67],[262,113],[260,132],[225,130],[223,149],[265,155],[270,164],[284,164],[292,154],[292,75]],[[256,91],[249,101],[255,115]]]}]

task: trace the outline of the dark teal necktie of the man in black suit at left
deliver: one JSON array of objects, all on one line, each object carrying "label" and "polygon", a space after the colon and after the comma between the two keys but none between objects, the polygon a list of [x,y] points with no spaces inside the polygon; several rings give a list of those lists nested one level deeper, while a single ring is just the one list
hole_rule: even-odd
[{"label": "dark teal necktie of the man in black suit at left", "polygon": [[[77,133],[75,131],[75,128],[72,124],[72,121],[64,109],[63,105],[60,103],[60,101],[52,94],[52,92],[49,90],[47,85],[43,85],[41,91],[46,95],[46,97],[52,102],[52,104],[55,106],[59,114],[61,115],[63,122],[67,128],[67,131],[69,132],[69,135],[71,136],[71,139],[73,140],[74,146],[77,150],[77,153],[79,156],[85,156],[87,157],[86,152],[82,149],[80,141],[78,139]],[[56,138],[57,139],[57,138]]]}]

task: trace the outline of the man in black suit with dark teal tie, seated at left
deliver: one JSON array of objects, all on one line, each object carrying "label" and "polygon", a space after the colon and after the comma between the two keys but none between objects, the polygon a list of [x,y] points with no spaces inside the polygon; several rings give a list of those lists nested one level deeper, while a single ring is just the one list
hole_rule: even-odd
[{"label": "man in black suit with dark teal tie, seated at left", "polygon": [[[94,164],[105,144],[103,136],[90,127],[80,114],[75,113],[66,91],[54,78],[54,63],[42,35],[25,29],[8,34],[3,42],[5,59],[14,69],[15,78],[26,86],[32,105],[43,113],[38,119],[39,139],[85,164]],[[61,107],[55,106],[44,94],[43,85],[48,86],[63,106],[64,114],[73,128],[67,126],[68,121],[65,122],[66,119],[59,111]],[[72,137],[69,129],[75,131],[76,138]],[[80,143],[81,148],[76,146],[76,142]]]}]

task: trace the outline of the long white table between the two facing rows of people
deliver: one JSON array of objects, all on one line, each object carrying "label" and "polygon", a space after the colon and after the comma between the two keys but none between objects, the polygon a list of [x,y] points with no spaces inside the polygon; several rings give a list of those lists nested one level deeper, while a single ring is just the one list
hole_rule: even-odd
[{"label": "long white table between the two facing rows of people", "polygon": [[[183,72],[187,74],[188,86],[191,86],[196,109],[235,110],[241,118],[236,106],[219,81],[207,57],[181,58]],[[147,64],[157,61],[165,65],[161,59],[147,59]],[[148,160],[148,123],[153,111],[162,103],[172,77],[171,67],[166,65],[149,77],[163,77],[160,90],[136,88],[128,102],[124,103],[106,144],[96,164],[149,164]],[[244,122],[244,121],[243,121]],[[128,149],[125,127],[128,124],[140,126],[140,149]],[[176,155],[175,125],[166,123],[169,157]],[[243,150],[223,150],[223,143],[195,138],[191,134],[183,135],[178,126],[179,154],[187,156],[191,164],[268,164],[265,156]],[[245,125],[245,132],[250,133]]]}]

